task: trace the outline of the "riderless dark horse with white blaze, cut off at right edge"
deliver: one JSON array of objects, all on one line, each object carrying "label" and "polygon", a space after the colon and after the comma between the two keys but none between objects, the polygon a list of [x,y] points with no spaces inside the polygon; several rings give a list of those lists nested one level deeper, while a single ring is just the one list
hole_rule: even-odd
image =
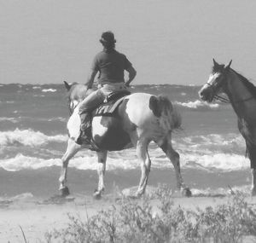
[{"label": "riderless dark horse with white blaze, cut off at right edge", "polygon": [[[213,59],[212,73],[199,91],[203,101],[230,101],[238,119],[238,129],[247,145],[247,155],[251,161],[252,195],[256,195],[256,87],[233,70],[230,65],[220,65]],[[224,93],[229,100],[219,93]]]}]

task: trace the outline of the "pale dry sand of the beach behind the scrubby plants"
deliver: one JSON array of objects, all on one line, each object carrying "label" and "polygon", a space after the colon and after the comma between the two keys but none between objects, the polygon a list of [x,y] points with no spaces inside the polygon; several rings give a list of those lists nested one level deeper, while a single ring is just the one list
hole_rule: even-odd
[{"label": "pale dry sand of the beach behind the scrubby plants", "polygon": [[[205,210],[208,206],[226,205],[229,196],[230,194],[195,194],[194,197],[184,198],[174,195],[172,201],[174,206],[195,211]],[[0,201],[0,242],[47,242],[46,234],[51,234],[55,229],[67,228],[70,223],[68,216],[79,217],[86,222],[89,217],[96,215],[99,211],[108,210],[112,205],[116,205],[117,198],[117,194],[106,194],[102,200],[94,200],[90,196],[73,194],[66,200],[57,200],[56,197],[55,200],[54,198],[39,200],[31,194],[22,194],[12,198],[12,202]],[[247,202],[255,204],[256,199],[248,196]],[[158,213],[159,200],[151,200],[150,204],[153,206],[153,211]]]}]

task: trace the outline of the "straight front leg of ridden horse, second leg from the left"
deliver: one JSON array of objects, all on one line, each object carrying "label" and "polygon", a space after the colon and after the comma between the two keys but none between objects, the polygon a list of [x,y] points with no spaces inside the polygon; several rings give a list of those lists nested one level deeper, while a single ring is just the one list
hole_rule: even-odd
[{"label": "straight front leg of ridden horse, second leg from the left", "polygon": [[101,199],[102,193],[104,192],[104,175],[106,171],[106,160],[107,160],[107,153],[108,151],[101,151],[97,152],[98,156],[98,169],[97,173],[99,176],[99,182],[98,182],[98,188],[96,189],[95,193],[93,196],[96,199]]}]

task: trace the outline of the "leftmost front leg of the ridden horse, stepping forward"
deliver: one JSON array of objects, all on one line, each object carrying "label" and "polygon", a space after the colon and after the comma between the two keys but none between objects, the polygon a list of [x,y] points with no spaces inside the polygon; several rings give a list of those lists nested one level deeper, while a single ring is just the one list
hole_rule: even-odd
[{"label": "leftmost front leg of the ridden horse, stepping forward", "polygon": [[72,157],[78,153],[79,149],[81,148],[81,145],[74,142],[72,139],[68,139],[67,141],[67,150],[66,153],[61,158],[62,161],[62,167],[61,167],[61,176],[59,178],[60,182],[60,192],[61,196],[65,197],[69,194],[69,189],[67,188],[67,165],[69,159],[72,159]]}]

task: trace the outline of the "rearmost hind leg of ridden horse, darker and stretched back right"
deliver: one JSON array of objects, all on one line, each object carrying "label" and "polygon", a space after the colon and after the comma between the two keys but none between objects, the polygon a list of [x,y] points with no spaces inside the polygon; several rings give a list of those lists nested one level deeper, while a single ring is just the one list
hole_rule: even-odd
[{"label": "rearmost hind leg of ridden horse, darker and stretched back right", "polygon": [[179,154],[172,148],[172,140],[171,136],[169,139],[166,139],[161,145],[160,148],[166,153],[166,156],[172,161],[172,165],[174,166],[176,179],[177,179],[177,189],[183,190],[183,194],[186,196],[191,196],[191,192],[189,188],[186,188],[183,182],[183,176],[180,171],[180,162],[179,162]]}]

